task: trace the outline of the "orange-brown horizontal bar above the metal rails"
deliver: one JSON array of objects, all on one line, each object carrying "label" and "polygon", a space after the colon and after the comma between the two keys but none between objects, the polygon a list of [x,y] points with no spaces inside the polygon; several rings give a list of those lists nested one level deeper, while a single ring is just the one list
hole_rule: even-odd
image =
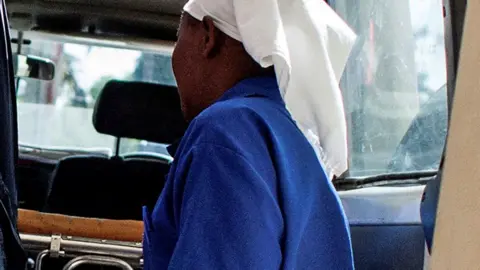
[{"label": "orange-brown horizontal bar above the metal rails", "polygon": [[26,234],[61,234],[102,240],[141,242],[143,222],[73,217],[19,209],[18,230]]}]

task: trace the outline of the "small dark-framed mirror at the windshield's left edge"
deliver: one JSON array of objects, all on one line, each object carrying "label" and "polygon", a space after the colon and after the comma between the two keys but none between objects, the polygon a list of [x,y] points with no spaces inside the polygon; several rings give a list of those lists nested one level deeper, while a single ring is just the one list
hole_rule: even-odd
[{"label": "small dark-framed mirror at the windshield's left edge", "polygon": [[55,64],[51,60],[33,55],[14,54],[13,70],[16,78],[50,81],[55,76]]}]

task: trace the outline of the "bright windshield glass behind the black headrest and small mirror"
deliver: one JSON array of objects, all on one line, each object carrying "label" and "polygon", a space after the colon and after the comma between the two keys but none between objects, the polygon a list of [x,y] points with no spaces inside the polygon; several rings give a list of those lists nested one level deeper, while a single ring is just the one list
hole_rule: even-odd
[{"label": "bright windshield glass behind the black headrest and small mirror", "polygon": [[[31,39],[22,53],[56,64],[53,81],[21,79],[17,90],[19,142],[24,146],[112,153],[115,138],[95,131],[95,101],[111,79],[175,85],[170,56],[129,49]],[[120,153],[167,154],[165,145],[122,139]]]}]

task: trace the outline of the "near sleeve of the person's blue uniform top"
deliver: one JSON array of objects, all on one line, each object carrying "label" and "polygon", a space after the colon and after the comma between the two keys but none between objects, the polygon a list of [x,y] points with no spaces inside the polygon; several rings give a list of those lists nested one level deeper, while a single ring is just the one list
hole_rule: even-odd
[{"label": "near sleeve of the person's blue uniform top", "polygon": [[[178,242],[169,269],[279,269],[283,219],[274,179],[238,151],[194,146],[176,173]],[[266,181],[268,180],[268,181]]]}]

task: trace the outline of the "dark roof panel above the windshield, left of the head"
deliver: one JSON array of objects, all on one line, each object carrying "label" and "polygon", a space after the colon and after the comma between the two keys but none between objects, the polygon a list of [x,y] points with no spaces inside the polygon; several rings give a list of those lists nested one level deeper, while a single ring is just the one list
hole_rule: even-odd
[{"label": "dark roof panel above the windshield, left of the head", "polygon": [[61,34],[175,40],[186,0],[8,0],[10,26]]}]

